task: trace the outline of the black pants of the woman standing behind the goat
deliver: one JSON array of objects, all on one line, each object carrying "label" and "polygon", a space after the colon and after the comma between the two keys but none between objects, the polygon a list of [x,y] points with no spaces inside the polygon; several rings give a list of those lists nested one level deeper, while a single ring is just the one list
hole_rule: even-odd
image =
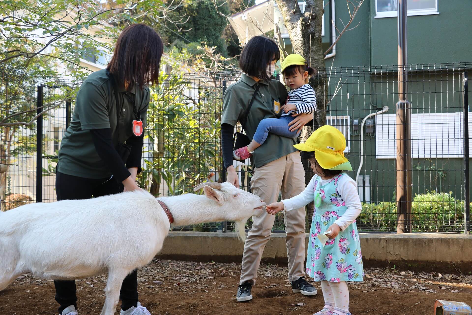
[{"label": "black pants of the woman standing behind the goat", "polygon": [[[60,172],[56,174],[56,194],[57,199],[89,199],[113,195],[123,191],[123,185],[115,179],[85,179],[82,177],[70,176]],[[125,228],[125,227],[123,227]],[[67,231],[64,231],[67,233]],[[60,255],[60,254],[59,254]],[[59,280],[54,281],[56,287],[56,301],[60,304],[59,314],[74,305],[77,308],[76,281]],[[132,306],[137,306],[138,302],[138,280],[137,271],[128,274],[123,280],[119,294],[121,309],[126,311]]]}]

